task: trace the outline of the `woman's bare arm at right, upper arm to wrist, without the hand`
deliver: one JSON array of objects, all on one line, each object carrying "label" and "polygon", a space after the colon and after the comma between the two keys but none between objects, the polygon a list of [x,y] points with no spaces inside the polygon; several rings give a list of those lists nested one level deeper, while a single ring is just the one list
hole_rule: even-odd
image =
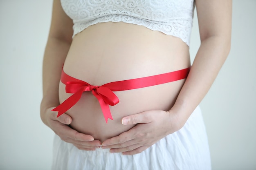
[{"label": "woman's bare arm at right, upper arm to wrist, without the hand", "polygon": [[[171,109],[181,127],[201,102],[225,62],[231,45],[231,0],[195,0],[201,45]],[[183,113],[183,114],[180,114]]]}]

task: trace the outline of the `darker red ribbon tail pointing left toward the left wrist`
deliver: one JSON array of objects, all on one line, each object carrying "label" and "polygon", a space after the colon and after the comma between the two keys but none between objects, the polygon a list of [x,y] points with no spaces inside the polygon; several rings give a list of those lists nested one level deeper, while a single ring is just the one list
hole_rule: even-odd
[{"label": "darker red ribbon tail pointing left toward the left wrist", "polygon": [[57,117],[61,116],[63,113],[65,113],[67,110],[72,108],[76,102],[79,101],[83,93],[83,89],[77,91],[72,96],[67,98],[62,104],[58,105],[56,108],[52,109],[52,111],[58,111]]}]

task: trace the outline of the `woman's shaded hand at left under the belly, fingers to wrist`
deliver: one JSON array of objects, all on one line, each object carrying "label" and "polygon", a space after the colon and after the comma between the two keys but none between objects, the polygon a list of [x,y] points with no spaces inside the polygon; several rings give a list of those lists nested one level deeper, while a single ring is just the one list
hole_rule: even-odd
[{"label": "woman's shaded hand at left under the belly, fingers to wrist", "polygon": [[101,141],[94,140],[91,135],[85,135],[70,128],[68,125],[71,124],[72,118],[69,115],[64,113],[57,118],[57,112],[51,111],[53,108],[47,108],[45,113],[41,113],[41,119],[63,141],[71,143],[81,150],[95,150],[101,146]]}]

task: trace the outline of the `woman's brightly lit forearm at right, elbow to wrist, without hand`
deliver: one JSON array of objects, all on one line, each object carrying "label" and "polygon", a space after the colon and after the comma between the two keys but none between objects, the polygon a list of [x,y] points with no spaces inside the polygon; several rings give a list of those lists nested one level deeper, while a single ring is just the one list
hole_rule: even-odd
[{"label": "woman's brightly lit forearm at right, elbow to wrist, without hand", "polygon": [[177,100],[171,108],[177,113],[181,126],[209,91],[230,50],[230,39],[211,36],[201,46],[191,66],[190,73]]}]

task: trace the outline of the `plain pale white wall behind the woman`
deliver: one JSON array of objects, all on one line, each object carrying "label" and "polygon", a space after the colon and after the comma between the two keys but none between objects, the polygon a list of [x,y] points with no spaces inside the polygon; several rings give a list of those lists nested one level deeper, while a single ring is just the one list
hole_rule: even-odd
[{"label": "plain pale white wall behind the woman", "polygon": [[[233,1],[232,46],[201,103],[213,170],[256,170],[256,0]],[[52,0],[0,0],[0,170],[47,170],[54,133],[39,116]],[[195,15],[191,58],[200,45]]]}]

